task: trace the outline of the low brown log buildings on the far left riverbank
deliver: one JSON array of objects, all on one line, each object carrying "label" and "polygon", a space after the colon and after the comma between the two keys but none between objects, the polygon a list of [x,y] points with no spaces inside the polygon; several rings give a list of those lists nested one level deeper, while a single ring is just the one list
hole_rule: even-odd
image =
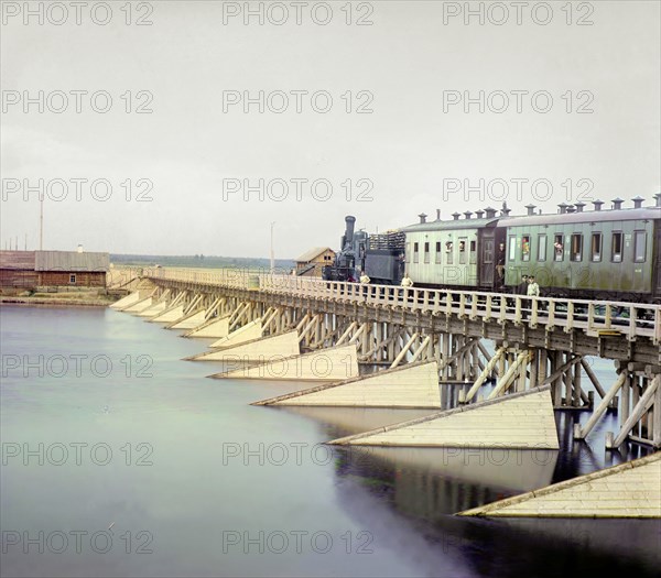
[{"label": "low brown log buildings on the far left riverbank", "polygon": [[69,290],[105,287],[108,253],[84,251],[0,251],[0,287]]}]

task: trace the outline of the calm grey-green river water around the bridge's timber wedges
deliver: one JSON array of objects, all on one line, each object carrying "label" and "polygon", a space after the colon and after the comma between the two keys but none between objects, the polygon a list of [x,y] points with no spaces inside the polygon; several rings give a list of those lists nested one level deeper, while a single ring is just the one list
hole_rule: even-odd
[{"label": "calm grey-green river water around the bridge's timber wedges", "polygon": [[613,415],[574,444],[556,413],[560,451],[337,448],[430,412],[251,406],[301,384],[205,379],[208,341],[111,309],[0,327],[2,576],[658,575],[659,521],[453,515],[644,455]]}]

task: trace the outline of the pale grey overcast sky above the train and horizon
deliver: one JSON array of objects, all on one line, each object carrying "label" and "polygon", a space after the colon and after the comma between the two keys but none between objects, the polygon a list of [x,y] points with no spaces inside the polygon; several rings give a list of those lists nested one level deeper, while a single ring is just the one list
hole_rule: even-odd
[{"label": "pale grey overcast sky above the train and horizon", "polygon": [[[578,195],[631,206],[661,190],[657,1],[529,2],[519,14],[470,2],[481,24],[465,21],[464,2],[340,1],[329,14],[308,1],[301,24],[291,2],[250,2],[263,24],[229,15],[243,2],[134,2],[129,14],[120,1],[110,15],[93,1],[78,15],[69,2],[31,2],[43,23],[25,22],[24,2],[2,4],[2,249],[17,237],[23,249],[25,235],[39,248],[39,193],[24,184],[40,178],[46,249],[268,257],[275,221],[278,258],[335,248],[348,214],[375,231],[500,207],[503,195],[513,212],[531,201],[554,212]],[[80,112],[77,90],[88,92]],[[301,112],[292,90],[308,92]],[[106,113],[97,91],[112,98]],[[263,113],[231,103],[260,91]],[[274,91],[289,95],[281,113]],[[480,91],[484,111],[466,111]],[[37,100],[26,111],[25,97]],[[108,107],[102,92],[94,106]],[[105,181],[80,182],[77,199],[72,179],[85,178]],[[266,198],[243,198],[245,179],[260,178]],[[289,182],[281,200],[277,179]],[[295,179],[308,179],[300,200]],[[465,179],[477,188],[455,190]],[[519,195],[516,179],[529,179]]]}]

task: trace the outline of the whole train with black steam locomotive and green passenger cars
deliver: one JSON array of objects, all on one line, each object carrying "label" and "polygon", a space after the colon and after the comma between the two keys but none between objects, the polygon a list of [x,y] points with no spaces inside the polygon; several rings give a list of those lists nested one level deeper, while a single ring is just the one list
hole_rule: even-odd
[{"label": "whole train with black steam locomotive and green passenger cars", "polygon": [[324,268],[327,281],[400,284],[404,274],[415,286],[512,293],[522,275],[534,275],[541,295],[551,297],[661,304],[661,193],[655,205],[632,207],[613,200],[560,204],[556,214],[510,215],[491,207],[455,212],[452,219],[420,222],[369,235],[346,217],[340,250]]}]

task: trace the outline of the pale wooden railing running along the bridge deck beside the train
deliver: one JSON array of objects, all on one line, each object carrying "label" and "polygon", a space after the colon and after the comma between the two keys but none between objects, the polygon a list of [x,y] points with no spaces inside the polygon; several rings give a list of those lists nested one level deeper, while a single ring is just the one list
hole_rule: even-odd
[{"label": "pale wooden railing running along the bridge deck beside the train", "polygon": [[329,282],[239,269],[145,269],[144,276],[264,293],[294,294],[337,302],[365,303],[377,307],[420,310],[431,315],[472,320],[528,324],[566,332],[581,329],[589,335],[621,334],[661,343],[661,306],[554,297],[527,297],[479,291],[446,291],[392,285]]}]

